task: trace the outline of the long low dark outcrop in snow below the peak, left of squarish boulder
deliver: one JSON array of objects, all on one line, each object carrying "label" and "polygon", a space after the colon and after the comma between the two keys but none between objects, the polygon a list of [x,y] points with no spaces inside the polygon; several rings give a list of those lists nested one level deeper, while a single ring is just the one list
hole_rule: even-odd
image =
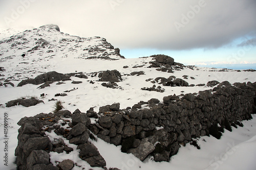
[{"label": "long low dark outcrop in snow below the peak, left of squarish boulder", "polygon": [[26,84],[34,84],[34,85],[38,85],[38,84],[42,84],[42,83],[46,83],[48,82],[56,82],[56,81],[66,81],[66,80],[71,80],[69,79],[68,76],[60,74],[56,71],[50,71],[47,72],[45,74],[39,75],[37,77],[35,77],[34,79],[27,79],[27,80],[22,80],[17,87],[26,85]]}]

